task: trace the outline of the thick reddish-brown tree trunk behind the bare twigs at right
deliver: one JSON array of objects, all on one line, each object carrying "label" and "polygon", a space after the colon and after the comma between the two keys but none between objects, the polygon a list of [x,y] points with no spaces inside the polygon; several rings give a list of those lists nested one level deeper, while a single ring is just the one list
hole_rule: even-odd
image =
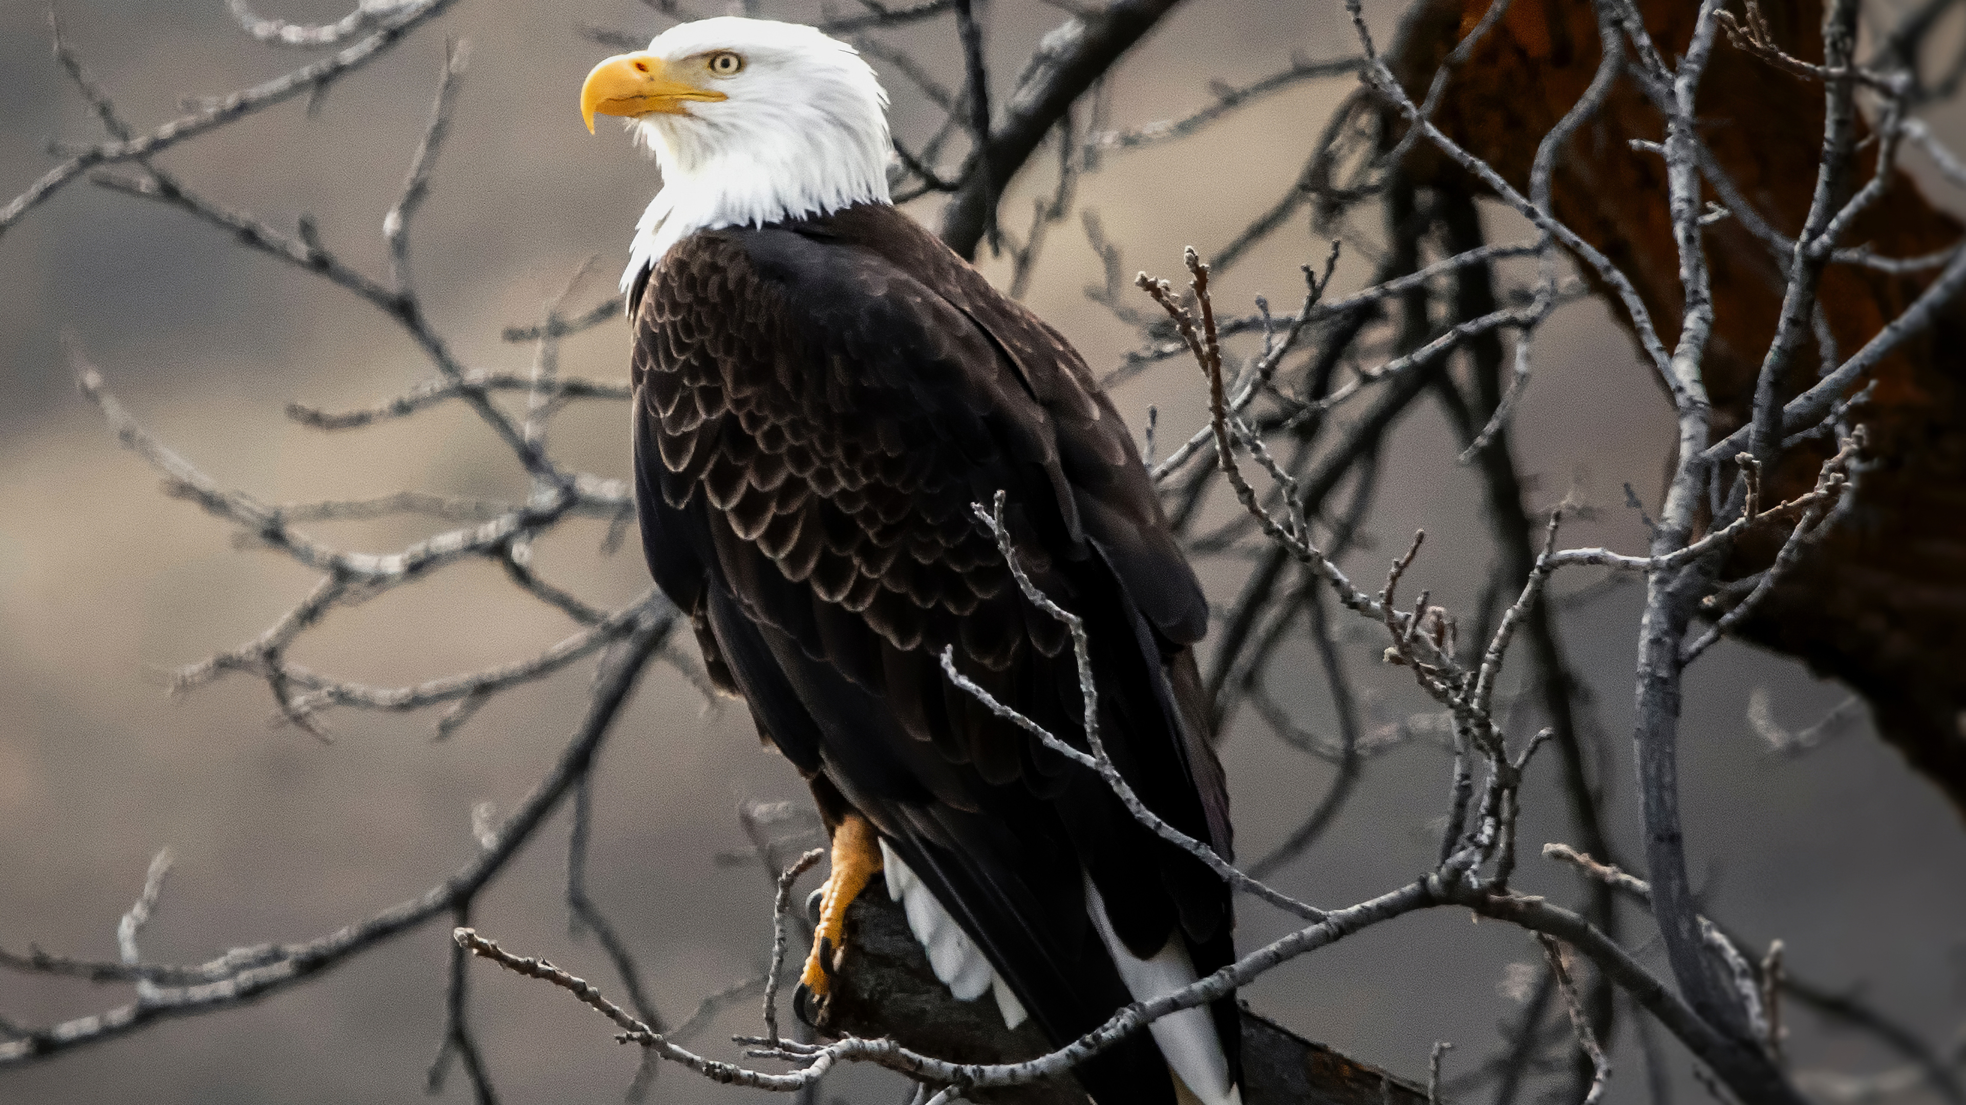
[{"label": "thick reddish-brown tree trunk behind the bare twigs at right", "polygon": [[[1445,55],[1474,28],[1488,0],[1431,0],[1417,8],[1394,47],[1402,81],[1425,90]],[[1681,51],[1695,4],[1640,0],[1661,49]],[[1819,0],[1764,4],[1775,37],[1793,55],[1822,57]],[[1583,94],[1598,63],[1596,16],[1589,0],[1514,0],[1500,26],[1449,81],[1437,120],[1476,157],[1528,191],[1537,140]],[[1797,79],[1720,41],[1701,87],[1701,134],[1736,187],[1779,232],[1795,234],[1809,210],[1822,144],[1822,87]],[[1608,254],[1638,287],[1667,344],[1677,336],[1681,287],[1665,206],[1665,165],[1630,140],[1659,142],[1659,112],[1628,77],[1606,108],[1579,130],[1557,159],[1553,210]],[[1858,155],[1856,183],[1870,179],[1876,149]],[[1421,144],[1408,163],[1421,185],[1474,189],[1453,163]],[[1710,199],[1718,199],[1708,191]],[[1933,206],[1899,175],[1842,246],[1917,258],[1960,240],[1960,222]],[[1775,330],[1783,262],[1740,220],[1706,232],[1714,334],[1705,364],[1714,405],[1714,440],[1746,423],[1762,354]],[[1850,356],[1905,309],[1937,269],[1891,275],[1830,265],[1822,309],[1840,356]],[[1781,399],[1815,381],[1821,366],[1809,338]],[[1559,372],[1579,372],[1565,366]],[[1610,368],[1606,368],[1610,370]],[[1634,358],[1628,372],[1648,372]],[[1937,326],[1907,342],[1876,374],[1860,411],[1878,466],[1864,474],[1854,511],[1809,551],[1740,633],[1799,657],[1821,674],[1860,690],[1881,735],[1952,798],[1966,816],[1966,305],[1952,303]],[[1830,446],[1797,448],[1771,474],[1787,497],[1809,488]],[[1781,535],[1744,541],[1726,576],[1765,568]]]}]

